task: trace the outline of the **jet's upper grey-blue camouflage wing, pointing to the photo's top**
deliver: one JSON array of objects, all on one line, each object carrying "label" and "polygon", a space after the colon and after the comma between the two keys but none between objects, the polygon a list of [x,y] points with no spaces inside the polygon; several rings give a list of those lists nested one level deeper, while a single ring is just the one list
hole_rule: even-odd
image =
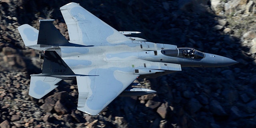
[{"label": "jet's upper grey-blue camouflage wing, pointing to the photo's top", "polygon": [[66,4],[60,10],[68,26],[70,42],[74,44],[109,45],[131,42],[77,3]]}]

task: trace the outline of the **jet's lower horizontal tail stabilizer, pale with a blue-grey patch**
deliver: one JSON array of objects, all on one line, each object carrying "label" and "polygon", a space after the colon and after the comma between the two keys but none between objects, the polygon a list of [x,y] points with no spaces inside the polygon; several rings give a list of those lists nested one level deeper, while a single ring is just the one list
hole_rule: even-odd
[{"label": "jet's lower horizontal tail stabilizer, pale with a blue-grey patch", "polygon": [[40,99],[54,88],[58,87],[57,84],[62,79],[50,76],[31,76],[29,95]]}]

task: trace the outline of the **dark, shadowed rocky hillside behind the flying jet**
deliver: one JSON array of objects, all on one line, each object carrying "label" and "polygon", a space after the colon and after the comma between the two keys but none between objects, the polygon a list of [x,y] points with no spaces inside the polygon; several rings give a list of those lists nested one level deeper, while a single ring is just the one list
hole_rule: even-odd
[{"label": "dark, shadowed rocky hillside behind the flying jet", "polygon": [[[61,6],[77,2],[117,30],[150,42],[192,47],[232,58],[222,68],[182,68],[141,87],[157,94],[118,97],[98,116],[76,110],[75,81],[62,81],[40,100],[28,95],[39,74],[38,52],[17,27],[52,18],[68,38]],[[1,0],[0,128],[254,128],[256,127],[256,8],[254,0]],[[137,36],[137,35],[134,35]]]}]

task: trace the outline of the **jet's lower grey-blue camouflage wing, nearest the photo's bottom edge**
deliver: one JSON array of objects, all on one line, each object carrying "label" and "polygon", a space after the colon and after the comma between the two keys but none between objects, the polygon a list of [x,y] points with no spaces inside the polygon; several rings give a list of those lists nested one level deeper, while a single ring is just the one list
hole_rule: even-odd
[{"label": "jet's lower grey-blue camouflage wing, nearest the photo's bottom edge", "polygon": [[99,76],[77,76],[78,110],[97,115],[139,75],[124,74],[118,70],[94,69]]}]

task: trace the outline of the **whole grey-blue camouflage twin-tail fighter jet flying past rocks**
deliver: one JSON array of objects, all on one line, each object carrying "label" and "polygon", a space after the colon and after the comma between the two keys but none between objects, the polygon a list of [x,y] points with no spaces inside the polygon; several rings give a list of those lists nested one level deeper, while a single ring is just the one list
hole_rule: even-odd
[{"label": "whole grey-blue camouflage twin-tail fighter jet flying past rocks", "polygon": [[128,37],[140,32],[119,32],[82,8],[69,3],[60,8],[68,26],[67,40],[52,24],[39,20],[39,31],[28,24],[18,27],[25,46],[40,50],[42,73],[32,74],[29,95],[42,98],[61,80],[76,80],[77,109],[97,115],[117,96],[155,93],[129,88],[137,78],[155,78],[182,67],[221,67],[237,62],[194,48],[177,48]]}]

